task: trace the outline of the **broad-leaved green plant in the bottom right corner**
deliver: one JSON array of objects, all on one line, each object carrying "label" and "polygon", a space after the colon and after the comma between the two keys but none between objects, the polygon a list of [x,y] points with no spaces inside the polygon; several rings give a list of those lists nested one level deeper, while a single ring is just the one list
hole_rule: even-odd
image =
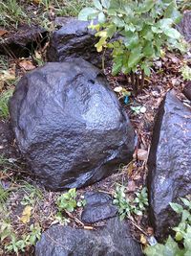
[{"label": "broad-leaved green plant in the bottom right corner", "polygon": [[[176,231],[175,240],[169,236],[165,244],[148,246],[144,250],[147,256],[191,255],[191,201],[187,198],[180,199],[183,206],[179,203],[170,203],[172,209],[181,216],[179,225],[173,228],[173,230]],[[179,246],[179,243],[181,243],[181,246]]]}]

